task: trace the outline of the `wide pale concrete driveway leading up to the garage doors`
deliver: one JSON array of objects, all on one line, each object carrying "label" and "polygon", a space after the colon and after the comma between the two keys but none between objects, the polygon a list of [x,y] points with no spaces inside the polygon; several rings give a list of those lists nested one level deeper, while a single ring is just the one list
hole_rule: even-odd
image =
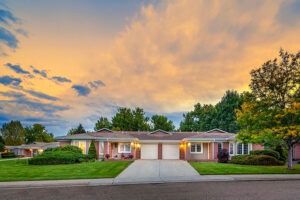
[{"label": "wide pale concrete driveway leading up to the garage doors", "polygon": [[182,160],[136,160],[114,180],[115,183],[198,180],[200,175]]}]

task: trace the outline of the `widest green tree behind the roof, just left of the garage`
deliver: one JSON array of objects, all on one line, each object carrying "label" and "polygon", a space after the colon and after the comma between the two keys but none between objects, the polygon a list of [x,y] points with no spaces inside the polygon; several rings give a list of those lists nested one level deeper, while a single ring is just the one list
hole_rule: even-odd
[{"label": "widest green tree behind the roof, just left of the garage", "polygon": [[112,127],[121,131],[147,131],[150,129],[148,121],[142,108],[119,108],[112,118]]}]

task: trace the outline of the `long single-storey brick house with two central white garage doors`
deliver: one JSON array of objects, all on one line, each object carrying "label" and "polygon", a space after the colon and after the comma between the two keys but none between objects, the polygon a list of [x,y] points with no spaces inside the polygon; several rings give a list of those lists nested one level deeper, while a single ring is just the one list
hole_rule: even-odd
[{"label": "long single-storey brick house with two central white garage doors", "polygon": [[61,146],[75,145],[87,154],[92,140],[97,155],[102,158],[121,158],[132,154],[134,159],[180,159],[195,161],[215,161],[218,151],[225,148],[230,156],[249,154],[250,150],[263,149],[257,144],[243,144],[236,141],[236,134],[219,129],[207,132],[153,132],[112,131],[67,135],[56,138]]}]

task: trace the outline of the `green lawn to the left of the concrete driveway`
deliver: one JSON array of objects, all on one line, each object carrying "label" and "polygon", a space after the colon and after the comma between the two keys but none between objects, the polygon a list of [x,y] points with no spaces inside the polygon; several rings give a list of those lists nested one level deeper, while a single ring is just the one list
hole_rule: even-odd
[{"label": "green lawn to the left of the concrete driveway", "polygon": [[27,160],[0,162],[0,181],[113,178],[131,161],[88,162],[66,165],[28,165]]}]

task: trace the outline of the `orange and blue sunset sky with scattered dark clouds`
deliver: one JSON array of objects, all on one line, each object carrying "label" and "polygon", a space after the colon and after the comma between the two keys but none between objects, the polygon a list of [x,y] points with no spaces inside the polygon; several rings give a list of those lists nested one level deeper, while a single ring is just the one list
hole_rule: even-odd
[{"label": "orange and blue sunset sky with scattered dark clouds", "polygon": [[1,0],[0,125],[59,136],[142,107],[178,127],[280,47],[300,50],[300,0]]}]

